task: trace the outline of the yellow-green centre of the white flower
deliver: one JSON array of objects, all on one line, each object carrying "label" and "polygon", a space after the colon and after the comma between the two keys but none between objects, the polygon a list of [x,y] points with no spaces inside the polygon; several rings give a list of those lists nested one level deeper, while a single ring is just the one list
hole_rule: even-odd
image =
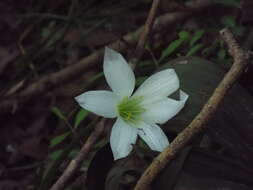
[{"label": "yellow-green centre of the white flower", "polygon": [[122,101],[118,104],[118,113],[120,117],[127,123],[136,124],[138,121],[140,121],[140,116],[145,111],[145,109],[140,105],[142,100],[142,96],[134,98],[123,98]]}]

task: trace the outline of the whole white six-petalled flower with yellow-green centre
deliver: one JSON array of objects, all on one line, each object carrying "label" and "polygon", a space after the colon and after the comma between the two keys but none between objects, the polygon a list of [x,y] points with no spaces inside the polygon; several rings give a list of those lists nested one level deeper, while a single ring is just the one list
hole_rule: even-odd
[{"label": "whole white six-petalled flower with yellow-green centre", "polygon": [[179,88],[174,69],[155,73],[133,94],[135,76],[121,54],[105,48],[103,68],[112,91],[88,91],[75,99],[81,107],[97,115],[117,117],[110,137],[114,159],[126,157],[131,152],[137,135],[152,150],[163,151],[169,142],[157,124],[174,117],[188,98],[183,91],[180,91],[179,101],[168,98]]}]

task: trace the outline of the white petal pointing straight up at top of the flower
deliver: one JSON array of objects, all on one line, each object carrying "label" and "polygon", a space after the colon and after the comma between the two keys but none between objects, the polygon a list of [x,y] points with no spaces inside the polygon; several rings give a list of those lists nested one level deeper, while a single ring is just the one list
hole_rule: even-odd
[{"label": "white petal pointing straight up at top of the flower", "polygon": [[118,52],[105,48],[104,74],[108,85],[120,97],[130,96],[135,86],[135,77],[130,65]]}]

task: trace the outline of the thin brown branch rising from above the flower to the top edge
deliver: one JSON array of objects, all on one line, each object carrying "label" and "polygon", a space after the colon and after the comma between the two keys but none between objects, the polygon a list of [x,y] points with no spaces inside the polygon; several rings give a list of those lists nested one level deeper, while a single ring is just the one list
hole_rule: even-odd
[{"label": "thin brown branch rising from above the flower to the top edge", "polygon": [[136,46],[136,57],[135,58],[137,60],[141,59],[141,56],[144,52],[145,43],[146,43],[146,41],[150,35],[150,32],[153,28],[153,24],[155,21],[155,16],[156,16],[159,4],[160,4],[160,0],[153,0],[151,9],[148,14],[148,18],[147,18],[145,26],[144,26],[144,29],[141,33],[140,39],[139,39],[138,44]]}]

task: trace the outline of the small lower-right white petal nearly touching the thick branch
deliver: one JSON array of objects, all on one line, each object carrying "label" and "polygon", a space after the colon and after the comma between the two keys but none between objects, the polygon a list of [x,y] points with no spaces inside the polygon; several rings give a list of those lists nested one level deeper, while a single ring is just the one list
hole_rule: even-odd
[{"label": "small lower-right white petal nearly touching the thick branch", "polygon": [[142,122],[141,127],[138,128],[138,135],[155,151],[162,152],[169,145],[167,136],[157,125]]}]

